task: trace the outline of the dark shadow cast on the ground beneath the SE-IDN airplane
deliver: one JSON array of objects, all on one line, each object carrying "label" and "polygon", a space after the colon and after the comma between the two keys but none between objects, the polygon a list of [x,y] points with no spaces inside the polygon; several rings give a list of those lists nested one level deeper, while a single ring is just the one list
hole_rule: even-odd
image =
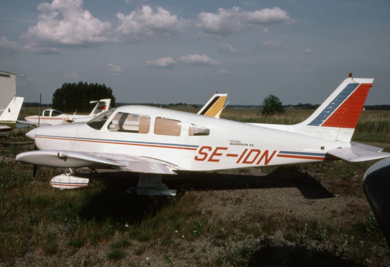
[{"label": "dark shadow cast on the ground beneath the SE-IDN airplane", "polygon": [[[128,188],[137,185],[137,174],[127,172],[104,172],[87,174],[100,181],[104,189],[91,196],[80,215],[85,218],[111,218],[117,222],[141,222],[152,216],[172,199],[164,197],[150,198],[126,193]],[[186,191],[239,190],[261,188],[296,187],[307,199],[332,198],[319,182],[298,168],[280,166],[265,176],[223,174],[215,172],[191,172],[178,177],[163,177],[163,181],[178,191],[180,198]]]}]

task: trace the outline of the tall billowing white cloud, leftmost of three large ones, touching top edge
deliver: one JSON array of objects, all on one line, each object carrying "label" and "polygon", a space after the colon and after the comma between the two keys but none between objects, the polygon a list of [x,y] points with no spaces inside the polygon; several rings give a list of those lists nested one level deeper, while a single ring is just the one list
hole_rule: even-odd
[{"label": "tall billowing white cloud, leftmost of three large ones, touching top edge", "polygon": [[39,21],[22,37],[31,46],[40,44],[79,46],[107,41],[105,34],[111,23],[99,21],[87,10],[82,0],[53,0],[38,6]]}]

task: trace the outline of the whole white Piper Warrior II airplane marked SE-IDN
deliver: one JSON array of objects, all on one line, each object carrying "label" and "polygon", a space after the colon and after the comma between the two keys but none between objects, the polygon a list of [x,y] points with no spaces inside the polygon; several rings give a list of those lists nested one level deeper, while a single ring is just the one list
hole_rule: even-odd
[{"label": "whole white Piper Warrior II airplane marked SE-IDN", "polygon": [[39,127],[26,135],[39,150],[20,162],[64,167],[50,184],[88,185],[69,168],[113,168],[139,173],[134,191],[175,196],[161,175],[264,165],[386,158],[382,148],[351,137],[373,79],[346,79],[303,123],[254,125],[148,106],[121,106],[87,123]]}]

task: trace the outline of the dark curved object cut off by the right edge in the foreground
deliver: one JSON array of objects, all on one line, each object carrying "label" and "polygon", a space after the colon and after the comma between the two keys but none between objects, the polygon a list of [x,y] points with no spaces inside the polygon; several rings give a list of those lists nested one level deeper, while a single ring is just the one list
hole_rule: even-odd
[{"label": "dark curved object cut off by the right edge in the foreground", "polygon": [[390,246],[390,158],[370,166],[364,174],[363,189]]}]

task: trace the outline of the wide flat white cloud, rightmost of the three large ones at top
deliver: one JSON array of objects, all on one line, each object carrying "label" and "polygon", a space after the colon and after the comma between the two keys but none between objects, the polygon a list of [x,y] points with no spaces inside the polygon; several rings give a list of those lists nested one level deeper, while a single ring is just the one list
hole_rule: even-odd
[{"label": "wide flat white cloud, rightmost of the three large ones at top", "polygon": [[221,37],[248,28],[259,28],[268,31],[266,26],[271,24],[291,24],[289,14],[279,7],[264,8],[255,11],[242,11],[240,7],[232,9],[218,8],[218,12],[201,12],[200,22],[196,27],[206,35]]}]

